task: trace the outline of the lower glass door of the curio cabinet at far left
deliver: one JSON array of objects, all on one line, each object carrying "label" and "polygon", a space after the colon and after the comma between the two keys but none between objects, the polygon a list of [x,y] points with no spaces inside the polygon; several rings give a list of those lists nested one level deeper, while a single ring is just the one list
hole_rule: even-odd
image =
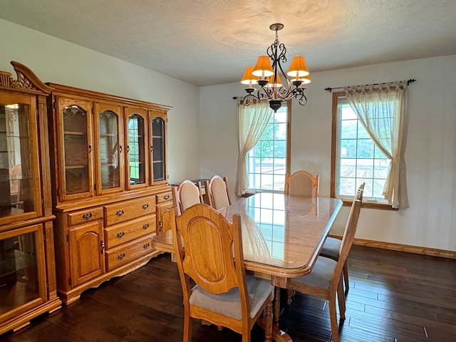
[{"label": "lower glass door of the curio cabinet at far left", "polygon": [[46,298],[41,225],[0,234],[0,321]]}]

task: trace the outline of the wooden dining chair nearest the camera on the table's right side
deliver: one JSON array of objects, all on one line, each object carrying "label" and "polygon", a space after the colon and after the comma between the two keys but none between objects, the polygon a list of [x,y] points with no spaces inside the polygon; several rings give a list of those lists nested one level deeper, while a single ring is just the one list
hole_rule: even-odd
[{"label": "wooden dining chair nearest the camera on the table's right side", "polygon": [[348,214],[345,232],[339,250],[338,261],[333,259],[318,257],[311,272],[306,276],[291,278],[286,284],[287,289],[298,291],[301,294],[311,294],[329,301],[329,318],[333,342],[339,342],[339,332],[336,311],[336,295],[339,305],[341,320],[345,319],[345,295],[343,294],[342,269],[346,263],[348,252],[356,233],[358,217],[361,212],[361,202],[363,202],[363,190],[358,190]]}]

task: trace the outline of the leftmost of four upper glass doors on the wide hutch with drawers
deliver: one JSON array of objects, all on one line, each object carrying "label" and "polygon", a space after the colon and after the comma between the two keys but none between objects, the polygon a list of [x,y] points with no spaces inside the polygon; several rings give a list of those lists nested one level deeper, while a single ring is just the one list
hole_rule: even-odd
[{"label": "leftmost of four upper glass doors on the wide hutch with drawers", "polygon": [[63,129],[63,197],[92,193],[91,155],[93,147],[88,134],[90,103],[63,100],[61,103]]}]

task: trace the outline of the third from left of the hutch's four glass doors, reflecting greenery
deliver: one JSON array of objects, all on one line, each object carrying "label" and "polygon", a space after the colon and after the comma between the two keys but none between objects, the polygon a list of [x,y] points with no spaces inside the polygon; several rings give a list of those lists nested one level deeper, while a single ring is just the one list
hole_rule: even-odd
[{"label": "third from left of the hutch's four glass doors, reflecting greenery", "polygon": [[[132,113],[133,112],[133,113]],[[129,187],[146,185],[147,160],[145,154],[146,116],[145,110],[130,110],[127,119],[127,171],[129,172]]]}]

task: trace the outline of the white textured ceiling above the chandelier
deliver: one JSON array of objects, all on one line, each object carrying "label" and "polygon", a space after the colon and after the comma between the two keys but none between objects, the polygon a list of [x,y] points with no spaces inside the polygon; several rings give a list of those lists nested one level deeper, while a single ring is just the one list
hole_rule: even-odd
[{"label": "white textured ceiling above the chandelier", "polygon": [[197,86],[239,81],[274,23],[311,73],[456,54],[456,0],[0,0],[0,19]]}]

